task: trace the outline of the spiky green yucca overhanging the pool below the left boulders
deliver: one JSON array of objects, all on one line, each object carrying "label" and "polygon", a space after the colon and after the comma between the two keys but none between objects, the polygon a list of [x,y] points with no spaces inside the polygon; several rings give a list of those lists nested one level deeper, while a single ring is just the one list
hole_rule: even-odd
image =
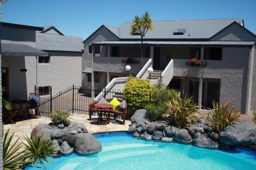
[{"label": "spiky green yucca overhanging the pool below the left boulders", "polygon": [[25,145],[25,154],[33,161],[32,166],[37,167],[37,163],[40,163],[41,168],[46,168],[44,162],[48,162],[53,166],[50,160],[53,160],[50,156],[55,156],[54,152],[58,151],[54,147],[54,142],[51,139],[45,138],[42,134],[35,135],[30,139],[27,135],[25,137],[27,143]]}]

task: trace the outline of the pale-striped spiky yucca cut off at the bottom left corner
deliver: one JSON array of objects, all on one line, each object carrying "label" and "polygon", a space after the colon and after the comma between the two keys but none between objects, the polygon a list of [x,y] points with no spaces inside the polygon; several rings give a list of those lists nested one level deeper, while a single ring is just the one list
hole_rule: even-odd
[{"label": "pale-striped spiky yucca cut off at the bottom left corner", "polygon": [[12,142],[13,135],[9,135],[9,130],[6,132],[3,140],[3,164],[5,170],[17,170],[22,166],[31,163],[28,160],[28,156],[24,154],[24,151],[18,152],[22,148],[22,143],[17,143],[18,139]]}]

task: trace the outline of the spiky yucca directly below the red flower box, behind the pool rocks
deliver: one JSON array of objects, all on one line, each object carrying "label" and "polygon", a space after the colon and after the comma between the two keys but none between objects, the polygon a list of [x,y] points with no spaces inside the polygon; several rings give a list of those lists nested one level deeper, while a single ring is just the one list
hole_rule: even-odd
[{"label": "spiky yucca directly below the red flower box, behind the pool rocks", "polygon": [[181,96],[173,98],[167,102],[168,114],[172,121],[172,124],[179,128],[187,127],[191,124],[191,120],[197,116],[197,106],[194,100],[190,96],[185,96],[181,99]]}]

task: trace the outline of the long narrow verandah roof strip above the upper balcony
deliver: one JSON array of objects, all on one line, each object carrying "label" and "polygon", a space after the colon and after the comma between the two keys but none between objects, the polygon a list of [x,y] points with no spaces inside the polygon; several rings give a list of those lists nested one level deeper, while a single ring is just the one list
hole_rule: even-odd
[{"label": "long narrow verandah roof strip above the upper balcony", "polygon": [[[254,41],[144,41],[144,45],[253,45]],[[140,45],[141,41],[100,41],[98,45]]]}]

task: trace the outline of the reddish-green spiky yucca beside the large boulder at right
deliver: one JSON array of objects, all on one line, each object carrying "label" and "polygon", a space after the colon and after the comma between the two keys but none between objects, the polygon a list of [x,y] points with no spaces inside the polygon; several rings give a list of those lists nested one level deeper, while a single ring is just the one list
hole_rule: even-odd
[{"label": "reddish-green spiky yucca beside the large boulder at right", "polygon": [[233,113],[234,107],[230,106],[230,100],[224,105],[216,102],[212,103],[212,109],[207,115],[207,122],[213,131],[220,133],[227,126],[232,126],[234,122],[239,121],[238,113]]}]

